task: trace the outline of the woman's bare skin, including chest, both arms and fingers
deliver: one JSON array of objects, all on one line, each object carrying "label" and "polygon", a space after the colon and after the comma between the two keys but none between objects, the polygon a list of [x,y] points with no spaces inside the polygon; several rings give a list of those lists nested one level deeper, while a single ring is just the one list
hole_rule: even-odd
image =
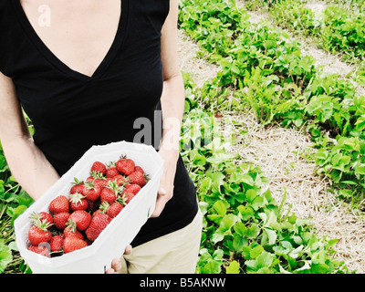
[{"label": "woman's bare skin, including chest, both arms and fingers", "polygon": [[[166,127],[162,131],[159,154],[164,161],[164,170],[152,217],[159,216],[165,204],[172,199],[183,120],[183,77],[177,55],[178,0],[170,2],[171,10],[162,27],[162,116]],[[47,5],[51,8],[51,26],[37,25],[38,7],[44,4],[43,0],[22,0],[21,4],[47,47],[69,68],[91,76],[105,57],[116,34],[120,0],[49,0]],[[0,104],[0,141],[6,160],[17,182],[37,200],[57,182],[59,175],[36,147],[27,129],[21,105],[16,99],[13,81],[1,72]],[[130,254],[130,245],[125,252]],[[119,269],[120,259],[116,258],[107,273]]]}]

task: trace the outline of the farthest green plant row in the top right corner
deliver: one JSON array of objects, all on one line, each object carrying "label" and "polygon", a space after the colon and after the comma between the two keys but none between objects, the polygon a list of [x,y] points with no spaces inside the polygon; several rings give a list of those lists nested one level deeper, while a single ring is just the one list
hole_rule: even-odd
[{"label": "farthest green plant row in the top right corner", "polygon": [[349,62],[362,63],[357,72],[365,76],[365,4],[363,1],[254,0],[244,1],[250,9],[266,11],[277,26],[309,36],[328,52]]}]

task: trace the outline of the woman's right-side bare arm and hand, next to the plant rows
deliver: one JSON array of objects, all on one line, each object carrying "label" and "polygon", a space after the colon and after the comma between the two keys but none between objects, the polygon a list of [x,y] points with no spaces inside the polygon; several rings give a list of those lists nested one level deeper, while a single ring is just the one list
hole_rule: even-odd
[{"label": "woman's right-side bare arm and hand, next to the plant rows", "polygon": [[152,217],[159,216],[172,198],[176,162],[179,158],[180,133],[183,122],[185,91],[177,53],[177,20],[179,1],[170,1],[170,13],[162,27],[162,143],[159,154],[164,171]]}]

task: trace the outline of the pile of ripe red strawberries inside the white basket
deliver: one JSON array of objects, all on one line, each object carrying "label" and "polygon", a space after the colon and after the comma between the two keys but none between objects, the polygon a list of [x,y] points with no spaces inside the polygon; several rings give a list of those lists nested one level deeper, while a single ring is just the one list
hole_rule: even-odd
[{"label": "pile of ripe red strawberries inside the white basket", "polygon": [[68,195],[49,203],[49,213],[32,214],[28,249],[49,257],[91,245],[148,180],[126,156],[108,165],[93,162],[89,177],[75,178]]}]

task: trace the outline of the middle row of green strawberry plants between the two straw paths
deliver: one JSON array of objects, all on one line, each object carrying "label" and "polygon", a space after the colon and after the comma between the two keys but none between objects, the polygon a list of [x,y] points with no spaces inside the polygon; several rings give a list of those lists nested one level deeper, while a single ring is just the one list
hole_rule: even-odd
[{"label": "middle row of green strawberry plants between the two straw paths", "polygon": [[[182,2],[180,26],[198,41],[211,61],[221,66],[216,78],[207,80],[200,89],[205,109],[241,111],[248,106],[264,125],[281,122],[284,127],[307,131],[319,153],[328,153],[328,159],[318,164],[318,173],[327,175],[344,199],[362,201],[362,153],[332,148],[333,141],[340,139],[358,138],[362,144],[364,98],[356,96],[349,81],[323,73],[313,57],[304,56],[300,44],[286,33],[264,23],[253,25],[244,9],[233,2],[221,2],[224,15],[217,12],[219,5],[209,5],[206,0]],[[283,0],[272,9],[294,17],[290,9],[296,5],[297,0]],[[229,11],[235,17],[226,17]],[[216,18],[206,26],[212,16]],[[219,27],[224,30],[217,33]],[[229,96],[232,89],[234,94]],[[351,157],[348,167],[338,169],[339,165],[332,163],[337,162],[331,159],[337,154]]]}]

